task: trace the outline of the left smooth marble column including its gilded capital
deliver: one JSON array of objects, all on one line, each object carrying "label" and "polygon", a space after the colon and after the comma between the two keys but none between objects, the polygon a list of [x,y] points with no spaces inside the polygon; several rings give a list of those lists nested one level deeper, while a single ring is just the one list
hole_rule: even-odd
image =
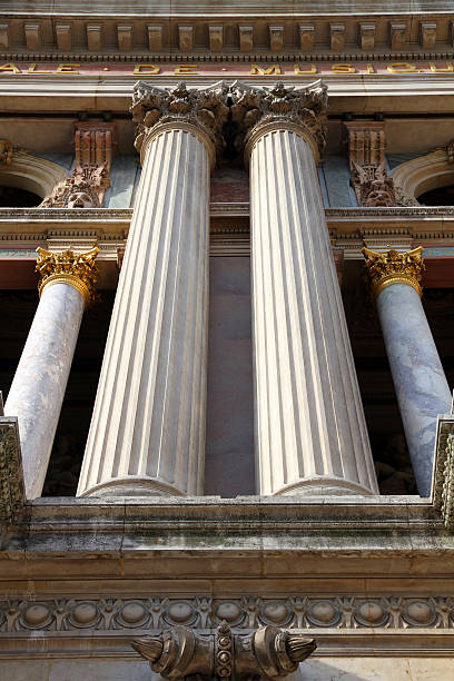
[{"label": "left smooth marble column including its gilded capital", "polygon": [[38,254],[40,300],[4,405],[19,422],[27,499],[45,484],[80,322],[95,295],[98,248]]}]

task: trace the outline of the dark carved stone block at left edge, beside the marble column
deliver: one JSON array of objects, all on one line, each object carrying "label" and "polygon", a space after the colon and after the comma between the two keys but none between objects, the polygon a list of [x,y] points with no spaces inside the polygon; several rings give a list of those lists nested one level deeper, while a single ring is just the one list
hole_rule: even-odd
[{"label": "dark carved stone block at left edge, beside the marble column", "polygon": [[0,522],[11,522],[26,501],[17,418],[0,417]]}]

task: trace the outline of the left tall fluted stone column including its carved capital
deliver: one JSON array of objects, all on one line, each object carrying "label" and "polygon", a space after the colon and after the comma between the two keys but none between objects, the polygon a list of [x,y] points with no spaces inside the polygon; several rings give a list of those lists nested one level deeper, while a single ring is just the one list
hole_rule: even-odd
[{"label": "left tall fluted stone column including its carved capital", "polygon": [[139,82],[142,174],[78,495],[203,493],[209,172],[220,89]]}]

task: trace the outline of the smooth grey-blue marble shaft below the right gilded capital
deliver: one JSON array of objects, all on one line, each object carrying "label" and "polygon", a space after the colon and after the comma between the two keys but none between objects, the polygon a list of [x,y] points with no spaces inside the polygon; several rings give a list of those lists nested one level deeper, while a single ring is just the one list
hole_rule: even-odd
[{"label": "smooth grey-blue marble shaft below the right gilded capital", "polygon": [[392,284],[376,304],[417,488],[428,496],[436,417],[450,413],[451,391],[415,288]]}]

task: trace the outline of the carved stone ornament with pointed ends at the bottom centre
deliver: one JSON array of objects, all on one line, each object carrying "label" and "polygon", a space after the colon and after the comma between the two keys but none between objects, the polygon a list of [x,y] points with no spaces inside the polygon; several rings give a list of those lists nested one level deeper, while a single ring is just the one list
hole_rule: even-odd
[{"label": "carved stone ornament with pointed ends at the bottom centre", "polygon": [[137,639],[132,648],[165,679],[251,681],[285,679],[314,652],[316,643],[276,626],[234,634],[227,622],[221,622],[215,634],[175,626],[159,636]]}]

